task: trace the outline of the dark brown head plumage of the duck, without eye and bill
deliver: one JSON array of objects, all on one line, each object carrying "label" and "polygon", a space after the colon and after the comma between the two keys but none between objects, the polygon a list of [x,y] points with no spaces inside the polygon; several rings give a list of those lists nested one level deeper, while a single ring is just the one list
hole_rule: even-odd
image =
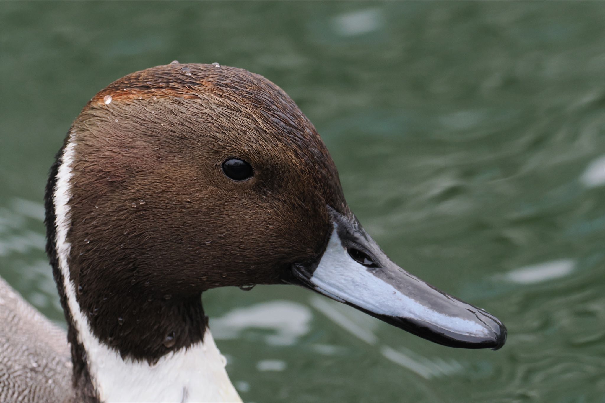
[{"label": "dark brown head plumage of the duck, without eye and bill", "polygon": [[[153,360],[201,340],[202,291],[280,282],[321,255],[328,205],[351,216],[315,127],[243,69],[129,74],[90,100],[70,134],[71,279],[93,332],[125,356]],[[229,158],[254,176],[227,178]]]}]

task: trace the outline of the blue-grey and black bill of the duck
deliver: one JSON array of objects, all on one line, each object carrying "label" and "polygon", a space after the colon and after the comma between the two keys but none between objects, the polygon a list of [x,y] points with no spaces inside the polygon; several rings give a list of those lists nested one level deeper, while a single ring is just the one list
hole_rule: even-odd
[{"label": "blue-grey and black bill of the duck", "polygon": [[324,254],[311,265],[293,265],[295,283],[444,346],[504,345],[506,328],[497,318],[391,262],[358,222],[333,210],[331,216]]}]

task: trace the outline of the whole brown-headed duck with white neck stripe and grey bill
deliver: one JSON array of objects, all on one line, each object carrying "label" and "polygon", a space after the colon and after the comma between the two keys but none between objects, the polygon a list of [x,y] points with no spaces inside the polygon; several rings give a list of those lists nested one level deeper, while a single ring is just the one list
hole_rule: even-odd
[{"label": "whole brown-headed duck with white neck stripe and grey bill", "polygon": [[[313,124],[243,69],[171,63],[111,83],[71,126],[45,201],[71,360],[3,283],[2,401],[240,401],[201,301],[221,286],[294,284],[446,346],[505,342],[492,315],[388,259]],[[35,348],[11,354],[21,341]]]}]

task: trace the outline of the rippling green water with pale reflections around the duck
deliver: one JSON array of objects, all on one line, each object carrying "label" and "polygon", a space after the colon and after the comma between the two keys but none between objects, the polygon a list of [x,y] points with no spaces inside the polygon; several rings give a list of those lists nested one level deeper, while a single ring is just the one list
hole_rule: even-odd
[{"label": "rippling green water with pale reflections around the duck", "polygon": [[605,401],[605,2],[1,2],[0,269],[65,326],[48,168],[155,65],[238,66],[313,121],[391,259],[508,327],[438,346],[292,286],[204,293],[250,402]]}]

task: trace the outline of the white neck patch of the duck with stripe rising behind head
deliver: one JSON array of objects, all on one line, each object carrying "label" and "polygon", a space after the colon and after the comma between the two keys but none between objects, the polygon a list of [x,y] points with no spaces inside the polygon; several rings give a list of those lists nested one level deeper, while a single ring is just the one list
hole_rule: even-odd
[{"label": "white neck patch of the duck with stripe rising behind head", "polygon": [[204,343],[168,353],[150,366],[145,361],[123,360],[94,336],[88,318],[76,300],[71,282],[68,256],[71,243],[67,231],[71,227],[70,198],[71,165],[75,159],[74,134],[70,133],[53,189],[56,216],[56,251],[67,305],[76,327],[78,341],[86,351],[88,372],[103,402],[241,402],[224,370],[224,357],[218,351],[209,330]]}]

